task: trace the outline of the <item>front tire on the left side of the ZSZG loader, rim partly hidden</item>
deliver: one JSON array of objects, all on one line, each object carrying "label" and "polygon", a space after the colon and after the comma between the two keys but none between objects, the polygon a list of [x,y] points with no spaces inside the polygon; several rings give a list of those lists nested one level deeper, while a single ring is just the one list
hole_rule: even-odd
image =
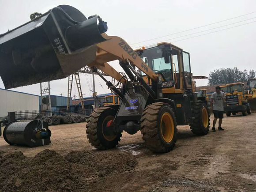
[{"label": "front tire on the left side of the ZSZG loader, rim partly hidden", "polygon": [[89,116],[86,125],[87,138],[89,143],[99,149],[106,150],[117,146],[122,133],[111,133],[110,136],[104,134],[105,125],[109,120],[113,120],[117,111],[110,107],[96,108]]}]

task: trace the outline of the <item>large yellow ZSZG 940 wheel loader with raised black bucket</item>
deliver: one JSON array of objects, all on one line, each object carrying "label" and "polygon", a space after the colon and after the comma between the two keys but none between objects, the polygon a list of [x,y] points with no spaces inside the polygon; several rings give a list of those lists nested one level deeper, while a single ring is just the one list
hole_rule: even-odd
[{"label": "large yellow ZSZG 940 wheel loader with raised black bucket", "polygon": [[[189,53],[171,43],[133,50],[124,39],[105,34],[98,15],[60,5],[0,35],[0,71],[6,88],[65,78],[87,65],[121,100],[94,109],[86,133],[92,146],[116,147],[122,132],[141,131],[146,146],[168,152],[177,140],[177,125],[196,135],[209,131],[206,101],[192,91]],[[108,64],[116,60],[126,76]],[[98,70],[122,83],[117,88]],[[117,83],[117,84],[118,84]]]}]

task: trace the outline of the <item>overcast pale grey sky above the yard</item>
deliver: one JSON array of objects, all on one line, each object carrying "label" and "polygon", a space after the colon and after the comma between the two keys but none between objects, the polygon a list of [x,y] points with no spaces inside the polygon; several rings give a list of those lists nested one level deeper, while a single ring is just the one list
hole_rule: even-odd
[{"label": "overcast pale grey sky above the yard", "polygon": [[[190,53],[193,75],[208,76],[218,68],[256,70],[256,0],[0,0],[0,34],[28,22],[31,13],[44,13],[60,4],[79,9],[87,18],[100,15],[108,23],[107,34],[123,38],[134,49],[172,42]],[[240,15],[244,16],[237,17]],[[122,72],[117,61],[110,64]],[[80,79],[84,97],[91,96],[92,75],[80,74]],[[110,92],[98,75],[95,84],[97,94]],[[206,84],[206,79],[196,81],[196,86]],[[51,94],[67,96],[67,78],[51,81],[50,85]],[[4,88],[1,79],[0,88]],[[40,94],[39,84],[11,90]],[[75,84],[72,96],[78,98]]]}]

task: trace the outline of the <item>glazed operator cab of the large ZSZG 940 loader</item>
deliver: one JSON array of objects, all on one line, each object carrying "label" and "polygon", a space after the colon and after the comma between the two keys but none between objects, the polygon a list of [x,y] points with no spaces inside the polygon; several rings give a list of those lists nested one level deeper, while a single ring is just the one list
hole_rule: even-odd
[{"label": "glazed operator cab of the large ZSZG 940 loader", "polygon": [[[173,86],[163,88],[163,93],[184,93],[184,90],[192,90],[192,73],[188,52],[166,42],[135,51],[147,66],[156,74],[162,75],[163,81],[172,82]],[[141,75],[148,84],[151,84],[147,75],[143,72]]]}]

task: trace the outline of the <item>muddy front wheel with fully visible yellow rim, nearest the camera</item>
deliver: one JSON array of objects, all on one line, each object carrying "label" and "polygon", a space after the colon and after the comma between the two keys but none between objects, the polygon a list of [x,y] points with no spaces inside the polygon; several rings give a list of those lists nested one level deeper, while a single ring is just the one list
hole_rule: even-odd
[{"label": "muddy front wheel with fully visible yellow rim, nearest the camera", "polygon": [[[165,127],[168,123],[169,130]],[[173,150],[177,141],[177,123],[169,104],[155,102],[148,105],[143,111],[140,126],[142,139],[149,149],[157,153]]]}]

